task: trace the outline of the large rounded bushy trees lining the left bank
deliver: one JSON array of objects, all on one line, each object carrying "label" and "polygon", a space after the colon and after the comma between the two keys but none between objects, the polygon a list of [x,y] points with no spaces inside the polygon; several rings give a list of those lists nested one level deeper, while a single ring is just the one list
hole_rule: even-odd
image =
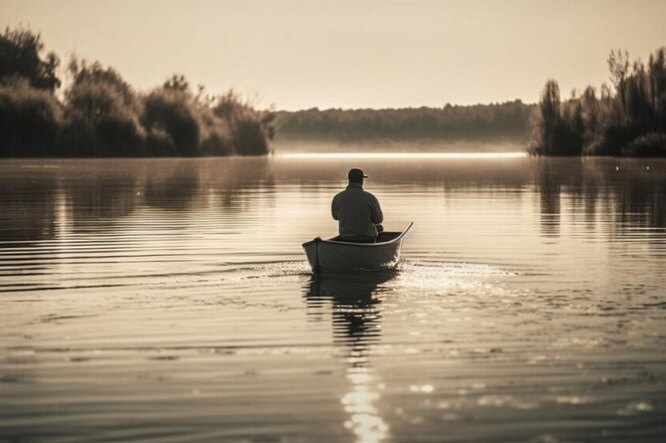
[{"label": "large rounded bushy trees lining the left bank", "polygon": [[211,96],[174,75],[147,93],[111,67],[42,55],[39,34],[0,35],[0,156],[126,157],[262,155],[275,114],[233,91]]}]

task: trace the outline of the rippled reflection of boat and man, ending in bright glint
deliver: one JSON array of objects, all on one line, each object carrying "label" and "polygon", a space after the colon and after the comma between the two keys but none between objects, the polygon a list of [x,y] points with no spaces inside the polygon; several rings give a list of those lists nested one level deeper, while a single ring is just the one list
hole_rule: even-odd
[{"label": "rippled reflection of boat and man, ending in bright glint", "polygon": [[313,276],[307,288],[308,310],[317,319],[331,313],[333,342],[345,348],[344,361],[349,390],[340,399],[349,418],[344,426],[356,441],[390,439],[389,426],[381,416],[381,380],[371,364],[373,350],[381,340],[381,301],[384,284],[396,270]]}]

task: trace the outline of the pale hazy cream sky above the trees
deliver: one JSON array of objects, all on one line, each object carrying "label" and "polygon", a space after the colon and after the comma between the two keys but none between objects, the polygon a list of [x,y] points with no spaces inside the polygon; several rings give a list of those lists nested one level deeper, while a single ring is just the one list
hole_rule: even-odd
[{"label": "pale hazy cream sky above the trees", "polygon": [[538,99],[608,78],[612,48],[666,45],[666,0],[0,0],[0,25],[139,89],[182,73],[278,109]]}]

